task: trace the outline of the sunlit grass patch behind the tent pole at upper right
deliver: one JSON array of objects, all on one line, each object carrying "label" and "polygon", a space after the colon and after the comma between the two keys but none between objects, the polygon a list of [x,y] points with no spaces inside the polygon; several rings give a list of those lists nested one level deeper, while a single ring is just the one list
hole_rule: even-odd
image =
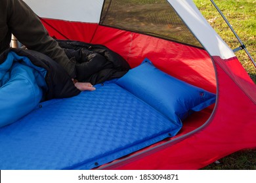
[{"label": "sunlit grass patch behind the tent pole at upper right", "polygon": [[[198,6],[203,16],[208,20],[209,24],[217,31],[217,33],[223,38],[223,40],[234,49],[240,46],[240,43],[230,31],[228,25],[224,22],[223,18],[213,7],[209,0],[194,0],[194,3]],[[256,14],[255,0],[215,0],[217,6],[221,9],[228,22],[232,25],[242,42],[244,42],[247,50],[251,54],[251,57],[256,59]],[[235,53],[238,59],[241,61],[247,73],[256,82],[256,69],[245,54],[244,50],[240,50]]]}]

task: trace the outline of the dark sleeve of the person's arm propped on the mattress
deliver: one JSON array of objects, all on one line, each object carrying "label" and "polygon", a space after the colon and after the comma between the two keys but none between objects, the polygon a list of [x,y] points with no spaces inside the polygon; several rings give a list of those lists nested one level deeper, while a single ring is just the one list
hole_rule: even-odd
[{"label": "dark sleeve of the person's arm propped on the mattress", "polygon": [[33,10],[21,0],[9,1],[7,24],[12,34],[28,49],[46,54],[62,65],[68,74],[75,75],[75,63],[70,61],[64,50],[58,46]]}]

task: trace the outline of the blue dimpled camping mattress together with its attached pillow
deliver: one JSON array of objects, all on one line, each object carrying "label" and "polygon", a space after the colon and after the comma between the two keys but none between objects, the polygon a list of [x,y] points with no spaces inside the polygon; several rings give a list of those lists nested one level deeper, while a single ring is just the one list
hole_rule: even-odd
[{"label": "blue dimpled camping mattress together with its attached pillow", "polygon": [[[0,128],[0,169],[93,169],[173,137],[188,110],[215,102],[213,93],[176,80],[150,62],[95,87],[40,103]],[[194,100],[182,101],[175,88],[192,88]]]}]

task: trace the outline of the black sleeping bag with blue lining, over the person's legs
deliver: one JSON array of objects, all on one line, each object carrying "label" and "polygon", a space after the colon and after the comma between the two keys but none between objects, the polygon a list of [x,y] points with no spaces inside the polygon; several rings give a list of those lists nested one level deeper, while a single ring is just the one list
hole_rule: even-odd
[{"label": "black sleeping bag with blue lining, over the person's legs", "polygon": [[41,101],[80,93],[56,61],[33,50],[0,54],[0,128],[30,113]]}]

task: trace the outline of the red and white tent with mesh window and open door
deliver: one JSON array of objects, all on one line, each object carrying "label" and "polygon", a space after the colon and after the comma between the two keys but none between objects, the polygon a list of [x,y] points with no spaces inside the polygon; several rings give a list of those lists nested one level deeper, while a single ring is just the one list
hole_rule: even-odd
[{"label": "red and white tent with mesh window and open door", "polygon": [[256,148],[256,87],[191,0],[30,1],[56,39],[102,44],[134,68],[161,71],[216,93],[215,105],[189,116],[174,137],[95,169],[200,169]]}]

